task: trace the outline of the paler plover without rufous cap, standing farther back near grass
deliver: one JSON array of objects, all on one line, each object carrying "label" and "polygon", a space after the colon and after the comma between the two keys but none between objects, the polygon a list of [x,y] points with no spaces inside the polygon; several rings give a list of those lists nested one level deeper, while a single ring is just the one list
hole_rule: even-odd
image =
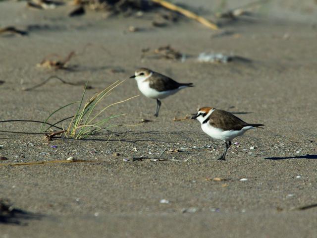
[{"label": "paler plover without rufous cap, standing farther back near grass", "polygon": [[135,78],[138,88],[144,96],[157,100],[157,110],[154,116],[159,116],[160,99],[177,93],[182,88],[193,87],[192,83],[178,83],[173,79],[152,71],[148,68],[139,68],[130,78]]}]

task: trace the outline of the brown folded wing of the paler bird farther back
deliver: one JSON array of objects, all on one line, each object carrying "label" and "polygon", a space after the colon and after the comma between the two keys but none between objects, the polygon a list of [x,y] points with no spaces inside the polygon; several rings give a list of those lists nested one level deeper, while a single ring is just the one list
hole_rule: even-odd
[{"label": "brown folded wing of the paler bird farther back", "polygon": [[156,89],[159,92],[174,90],[182,85],[183,84],[178,83],[173,79],[156,72],[153,73],[152,79],[150,80],[150,88]]}]

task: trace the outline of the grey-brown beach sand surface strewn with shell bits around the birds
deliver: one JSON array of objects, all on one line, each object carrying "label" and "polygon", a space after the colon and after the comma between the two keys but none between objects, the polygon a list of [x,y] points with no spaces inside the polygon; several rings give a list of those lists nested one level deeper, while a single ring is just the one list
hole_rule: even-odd
[{"label": "grey-brown beach sand surface strewn with shell bits around the birds", "polygon": [[[201,7],[205,17],[219,2],[187,1]],[[0,1],[1,27],[29,30],[28,36],[0,35],[0,120],[44,120],[80,99],[82,86],[57,80],[21,90],[51,75],[88,81],[89,96],[127,79],[104,107],[139,94],[128,77],[141,66],[195,84],[163,100],[159,118],[153,116],[155,100],[144,96],[107,109],[105,116],[128,113],[113,124],[153,121],[87,140],[48,143],[43,135],[0,132],[0,155],[8,158],[0,161],[0,198],[27,213],[0,222],[0,238],[317,237],[317,207],[297,209],[317,203],[317,4],[296,2],[270,3],[256,17],[223,21],[221,28],[234,34],[211,37],[214,32],[189,19],[156,28],[146,15],[105,19],[88,11],[70,18],[70,6],[41,11],[25,2]],[[129,32],[131,25],[142,31]],[[143,48],[167,44],[186,60],[141,59]],[[76,52],[69,62],[73,70],[36,67],[45,56],[71,51]],[[252,62],[197,62],[206,51]],[[173,121],[199,106],[237,113],[265,127],[236,138],[239,145],[229,149],[227,161],[217,161],[222,142],[204,134],[197,120]],[[55,119],[72,113],[66,110]],[[0,123],[1,130],[37,132],[39,127]],[[165,148],[162,157],[188,160],[124,161],[159,156]],[[70,156],[92,162],[4,166]]]}]

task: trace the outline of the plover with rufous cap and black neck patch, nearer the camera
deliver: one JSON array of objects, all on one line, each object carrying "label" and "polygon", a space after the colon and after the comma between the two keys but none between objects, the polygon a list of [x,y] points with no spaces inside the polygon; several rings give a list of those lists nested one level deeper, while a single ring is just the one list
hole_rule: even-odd
[{"label": "plover with rufous cap and black neck patch, nearer the camera", "polygon": [[233,138],[243,135],[247,130],[264,125],[249,124],[229,112],[210,107],[199,109],[192,119],[198,119],[202,124],[202,130],[211,138],[224,141],[225,151],[218,160],[225,160]]}]

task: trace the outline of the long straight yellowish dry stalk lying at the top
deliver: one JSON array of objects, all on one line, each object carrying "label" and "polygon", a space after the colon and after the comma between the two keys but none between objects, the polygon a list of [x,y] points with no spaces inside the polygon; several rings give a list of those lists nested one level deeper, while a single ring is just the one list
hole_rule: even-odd
[{"label": "long straight yellowish dry stalk lying at the top", "polygon": [[165,8],[168,8],[168,9],[173,10],[173,11],[177,11],[177,12],[183,14],[184,16],[192,18],[192,19],[202,23],[203,25],[211,28],[212,30],[218,30],[218,26],[215,23],[212,23],[211,21],[207,20],[204,17],[201,17],[201,16],[195,14],[194,12],[191,12],[189,10],[186,10],[184,8],[176,6],[173,3],[170,3],[170,2],[165,1],[165,0],[152,0],[152,1],[162,5]]}]

